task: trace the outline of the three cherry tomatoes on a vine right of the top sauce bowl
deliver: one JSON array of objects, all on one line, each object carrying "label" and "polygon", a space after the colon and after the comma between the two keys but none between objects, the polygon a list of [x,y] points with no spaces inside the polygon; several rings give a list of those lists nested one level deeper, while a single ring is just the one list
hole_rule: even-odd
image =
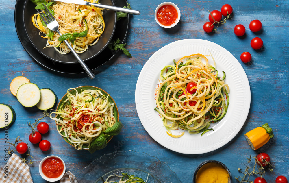
[{"label": "three cherry tomatoes on a vine right of the top sauce bowl", "polygon": [[[224,24],[227,21],[227,19],[230,17],[230,15],[232,14],[232,12],[233,12],[233,8],[229,4],[223,5],[221,8],[221,12],[218,10],[211,11],[209,14],[210,22],[206,22],[203,25],[204,31],[207,33],[213,32],[214,24],[219,24],[219,23]],[[221,21],[222,15],[226,17],[223,21]]]}]

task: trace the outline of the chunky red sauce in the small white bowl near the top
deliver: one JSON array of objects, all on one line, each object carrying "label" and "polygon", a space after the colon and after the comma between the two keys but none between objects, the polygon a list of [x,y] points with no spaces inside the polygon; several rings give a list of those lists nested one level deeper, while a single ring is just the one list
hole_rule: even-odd
[{"label": "chunky red sauce in the small white bowl near the top", "polygon": [[163,5],[158,9],[157,19],[165,26],[173,25],[178,18],[178,12],[172,5]]}]

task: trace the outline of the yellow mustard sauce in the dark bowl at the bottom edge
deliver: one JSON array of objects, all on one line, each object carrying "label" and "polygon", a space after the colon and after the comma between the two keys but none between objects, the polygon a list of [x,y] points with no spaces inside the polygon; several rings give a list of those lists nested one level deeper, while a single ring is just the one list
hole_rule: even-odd
[{"label": "yellow mustard sauce in the dark bowl at the bottom edge", "polygon": [[204,164],[196,175],[196,183],[228,183],[229,173],[217,163]]}]

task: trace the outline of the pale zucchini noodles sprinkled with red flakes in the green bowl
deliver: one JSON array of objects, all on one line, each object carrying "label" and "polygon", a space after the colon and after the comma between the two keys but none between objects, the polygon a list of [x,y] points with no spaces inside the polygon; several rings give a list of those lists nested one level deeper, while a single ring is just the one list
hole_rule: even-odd
[{"label": "pale zucchini noodles sprinkled with red flakes in the green bowl", "polygon": [[[73,95],[69,91],[75,90]],[[113,116],[114,103],[110,103],[100,90],[84,90],[80,93],[70,88],[67,99],[63,101],[57,112],[51,112],[50,118],[55,120],[58,133],[73,143],[80,150],[87,148],[94,138],[116,123]],[[51,115],[55,114],[55,117]]]}]

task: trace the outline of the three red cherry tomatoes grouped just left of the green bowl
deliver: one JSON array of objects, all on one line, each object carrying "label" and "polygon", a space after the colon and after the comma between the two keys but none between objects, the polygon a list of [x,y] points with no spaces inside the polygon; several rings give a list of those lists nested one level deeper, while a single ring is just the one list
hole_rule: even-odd
[{"label": "three red cherry tomatoes grouped just left of the green bowl", "polygon": [[49,125],[45,122],[40,122],[37,125],[37,130],[38,132],[32,132],[32,134],[29,135],[29,141],[32,144],[37,144],[39,143],[39,148],[42,151],[48,151],[48,149],[50,149],[50,142],[47,140],[42,140],[42,135],[41,134],[45,134],[49,131]]}]

